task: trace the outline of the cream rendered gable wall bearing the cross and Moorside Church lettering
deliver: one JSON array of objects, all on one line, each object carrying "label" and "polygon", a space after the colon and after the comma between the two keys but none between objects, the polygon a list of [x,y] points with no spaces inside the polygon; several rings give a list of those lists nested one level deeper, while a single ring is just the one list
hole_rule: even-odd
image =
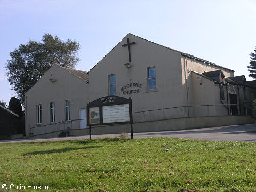
[{"label": "cream rendered gable wall bearing the cross and Moorside Church lettering", "polygon": [[[132,67],[127,69],[124,64],[129,62],[128,48],[122,44],[136,42],[131,45]],[[116,75],[116,95],[132,98],[133,111],[143,111],[166,107],[184,105],[185,94],[182,88],[181,55],[173,51],[146,41],[145,39],[128,34],[89,71],[89,87],[91,101],[108,95],[108,75]],[[147,68],[156,67],[157,90],[148,91]],[[142,88],[139,93],[123,94],[121,87],[129,83],[140,83]],[[133,88],[136,89],[136,88]],[[127,90],[133,90],[127,89]],[[182,114],[183,109],[167,111],[170,116]],[[166,114],[167,115],[167,114]],[[134,118],[141,118],[141,114],[135,114]],[[148,118],[163,116],[163,112],[146,114]]]}]

